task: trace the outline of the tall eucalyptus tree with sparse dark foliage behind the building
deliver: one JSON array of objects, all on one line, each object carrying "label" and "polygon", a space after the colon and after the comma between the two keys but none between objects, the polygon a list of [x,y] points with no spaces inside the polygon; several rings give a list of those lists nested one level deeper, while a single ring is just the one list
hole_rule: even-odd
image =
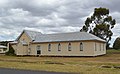
[{"label": "tall eucalyptus tree with sparse dark foliage behind the building", "polygon": [[109,9],[100,7],[94,9],[93,15],[86,19],[85,25],[80,31],[91,33],[106,40],[107,47],[109,47],[109,41],[113,35],[111,29],[114,28],[115,24],[115,19],[109,15]]}]

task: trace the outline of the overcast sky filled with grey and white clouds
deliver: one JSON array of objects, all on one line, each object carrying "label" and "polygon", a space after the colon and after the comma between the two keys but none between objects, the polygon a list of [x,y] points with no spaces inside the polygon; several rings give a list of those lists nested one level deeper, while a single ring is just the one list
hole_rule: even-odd
[{"label": "overcast sky filled with grey and white clouds", "polygon": [[23,30],[44,34],[79,31],[94,8],[105,7],[116,19],[111,44],[120,36],[120,0],[0,0],[0,41]]}]

